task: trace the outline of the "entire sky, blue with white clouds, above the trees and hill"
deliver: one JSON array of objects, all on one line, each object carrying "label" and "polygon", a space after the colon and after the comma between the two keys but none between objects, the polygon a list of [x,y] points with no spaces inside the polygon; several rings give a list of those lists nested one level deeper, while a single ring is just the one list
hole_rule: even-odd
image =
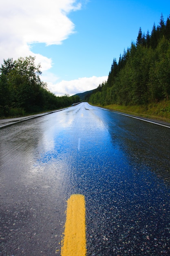
[{"label": "entire sky, blue with white clouds, above the trees and hill", "polygon": [[0,10],[7,24],[0,63],[33,55],[56,95],[92,90],[107,80],[113,58],[136,42],[139,27],[151,32],[161,13],[166,22],[169,0],[8,0]]}]

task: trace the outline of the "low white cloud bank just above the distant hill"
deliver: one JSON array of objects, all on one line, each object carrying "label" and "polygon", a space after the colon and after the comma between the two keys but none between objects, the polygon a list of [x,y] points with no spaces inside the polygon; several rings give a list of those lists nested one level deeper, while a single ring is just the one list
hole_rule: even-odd
[{"label": "low white cloud bank just above the distant hill", "polygon": [[74,95],[80,92],[86,92],[97,88],[99,84],[107,81],[108,76],[92,76],[82,77],[71,81],[61,81],[60,83],[53,84],[48,82],[48,88],[57,96],[64,94]]}]

